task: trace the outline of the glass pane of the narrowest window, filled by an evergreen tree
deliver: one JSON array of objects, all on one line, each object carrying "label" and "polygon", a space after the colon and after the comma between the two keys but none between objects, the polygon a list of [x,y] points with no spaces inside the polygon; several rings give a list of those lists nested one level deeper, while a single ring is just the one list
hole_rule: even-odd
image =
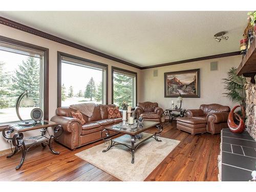
[{"label": "glass pane of the narrowest window, filled by an evergreen tree", "polygon": [[135,81],[136,78],[133,76],[113,73],[114,104],[121,106],[126,102],[129,106],[135,107]]}]

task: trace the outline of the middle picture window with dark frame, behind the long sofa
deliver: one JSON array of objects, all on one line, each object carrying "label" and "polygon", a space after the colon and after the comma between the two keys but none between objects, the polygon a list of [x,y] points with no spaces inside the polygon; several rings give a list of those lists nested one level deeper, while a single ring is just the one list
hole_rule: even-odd
[{"label": "middle picture window with dark frame, behind the long sofa", "polygon": [[58,52],[58,106],[107,103],[108,66]]}]

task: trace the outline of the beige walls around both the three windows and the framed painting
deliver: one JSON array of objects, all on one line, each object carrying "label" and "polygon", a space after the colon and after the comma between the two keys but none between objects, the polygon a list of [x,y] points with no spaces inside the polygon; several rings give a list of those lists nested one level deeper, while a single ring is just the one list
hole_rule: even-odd
[{"label": "beige walls around both the three windows and the framed painting", "polygon": [[[209,71],[209,62],[211,60],[183,63],[180,65],[153,68],[147,70],[139,70],[130,66],[123,65],[122,63],[115,62],[94,54],[90,54],[81,50],[71,48],[57,42],[41,38],[26,32],[22,32],[4,25],[0,25],[0,35],[9,38],[17,39],[20,41],[29,42],[37,46],[49,49],[49,118],[55,114],[57,106],[57,51],[65,52],[68,54],[76,55],[79,57],[95,60],[98,62],[109,65],[109,103],[111,103],[111,66],[119,67],[122,69],[135,71],[138,73],[138,102],[140,101],[155,101],[158,102],[164,109],[170,107],[172,100],[176,102],[176,98],[164,98],[164,78],[165,72],[182,71],[189,69],[200,68],[201,80],[201,98],[184,98],[183,108],[192,109],[198,108],[202,103],[220,103],[233,106],[234,103],[224,97],[224,85],[221,78],[226,77],[226,72],[232,66],[237,67],[241,61],[241,56],[224,57],[214,59],[219,61],[218,71]],[[153,77],[153,70],[158,70],[158,77]],[[36,134],[37,131],[30,134]],[[2,134],[0,136],[0,151],[9,148]]]}]

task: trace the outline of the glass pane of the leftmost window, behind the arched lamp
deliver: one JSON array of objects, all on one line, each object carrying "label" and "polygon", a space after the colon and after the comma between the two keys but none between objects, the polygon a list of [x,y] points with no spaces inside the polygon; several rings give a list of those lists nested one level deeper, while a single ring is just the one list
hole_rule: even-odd
[{"label": "glass pane of the leftmost window, behind the arched lamp", "polygon": [[41,63],[42,58],[0,50],[0,124],[19,121],[15,104],[17,97],[26,90],[28,97],[35,101],[35,106],[19,108],[22,119],[31,119],[33,108],[41,106],[42,109]]}]

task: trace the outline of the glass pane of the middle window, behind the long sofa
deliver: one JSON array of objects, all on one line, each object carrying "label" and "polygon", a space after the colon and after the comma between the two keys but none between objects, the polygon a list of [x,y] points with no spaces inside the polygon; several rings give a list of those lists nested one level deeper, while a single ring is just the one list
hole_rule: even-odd
[{"label": "glass pane of the middle window, behind the long sofa", "polygon": [[[105,103],[105,70],[61,63],[61,106]],[[103,88],[103,89],[102,89]]]}]

